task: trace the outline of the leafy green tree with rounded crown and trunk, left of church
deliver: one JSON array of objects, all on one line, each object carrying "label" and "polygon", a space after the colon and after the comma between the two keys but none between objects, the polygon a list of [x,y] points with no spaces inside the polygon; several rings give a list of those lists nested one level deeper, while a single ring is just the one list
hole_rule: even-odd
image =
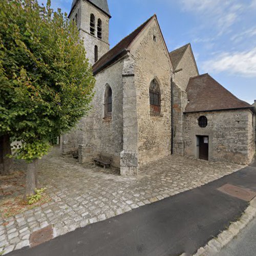
[{"label": "leafy green tree with rounded crown and trunk, left of church", "polygon": [[51,3],[0,0],[0,136],[21,142],[26,195],[37,186],[37,160],[49,140],[90,109],[95,79],[76,25]]}]

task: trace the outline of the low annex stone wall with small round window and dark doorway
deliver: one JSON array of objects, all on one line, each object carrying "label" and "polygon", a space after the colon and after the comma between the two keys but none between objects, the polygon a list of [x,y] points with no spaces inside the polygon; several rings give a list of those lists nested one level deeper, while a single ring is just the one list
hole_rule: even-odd
[{"label": "low annex stone wall with small round window and dark doorway", "polygon": [[[201,128],[198,118],[206,116],[208,125]],[[255,152],[255,132],[249,110],[230,110],[184,114],[185,155],[196,157],[196,136],[209,136],[209,160],[248,164]],[[250,128],[249,128],[250,126]],[[255,130],[255,129],[254,129]],[[252,137],[251,137],[252,136]]]}]

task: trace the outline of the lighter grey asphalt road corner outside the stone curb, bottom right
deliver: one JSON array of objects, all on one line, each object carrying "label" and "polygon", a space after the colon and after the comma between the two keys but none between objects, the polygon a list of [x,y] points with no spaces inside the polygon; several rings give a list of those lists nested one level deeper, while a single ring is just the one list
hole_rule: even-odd
[{"label": "lighter grey asphalt road corner outside the stone curb, bottom right", "polygon": [[250,222],[236,238],[224,247],[219,256],[255,256],[256,255],[256,219]]}]

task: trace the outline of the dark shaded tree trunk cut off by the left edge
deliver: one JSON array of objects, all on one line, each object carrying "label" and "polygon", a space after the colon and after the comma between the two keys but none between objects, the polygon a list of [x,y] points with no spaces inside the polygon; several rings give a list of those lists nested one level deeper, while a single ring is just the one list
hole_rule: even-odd
[{"label": "dark shaded tree trunk cut off by the left edge", "polygon": [[11,155],[11,141],[10,136],[3,135],[0,137],[0,174],[7,175],[13,170],[13,159],[7,155]]}]

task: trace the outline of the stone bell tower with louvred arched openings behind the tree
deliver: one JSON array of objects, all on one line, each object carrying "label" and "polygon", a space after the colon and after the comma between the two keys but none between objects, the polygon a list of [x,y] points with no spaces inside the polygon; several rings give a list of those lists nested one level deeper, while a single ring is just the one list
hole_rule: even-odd
[{"label": "stone bell tower with louvred arched openings behind the tree", "polygon": [[69,18],[76,22],[87,58],[93,65],[110,50],[108,0],[73,0]]}]

